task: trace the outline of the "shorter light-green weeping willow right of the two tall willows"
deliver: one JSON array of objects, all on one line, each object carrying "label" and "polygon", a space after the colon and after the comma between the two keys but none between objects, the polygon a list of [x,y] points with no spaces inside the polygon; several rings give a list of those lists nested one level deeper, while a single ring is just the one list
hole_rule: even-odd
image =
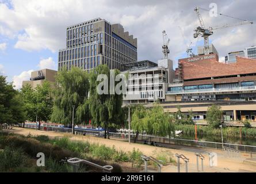
[{"label": "shorter light-green weeping willow right of the two tall willows", "polygon": [[173,117],[163,111],[159,102],[155,102],[151,109],[145,109],[142,105],[137,106],[132,114],[131,125],[132,129],[136,131],[136,137],[137,133],[143,131],[146,131],[149,135],[162,137],[171,136],[174,132]]}]

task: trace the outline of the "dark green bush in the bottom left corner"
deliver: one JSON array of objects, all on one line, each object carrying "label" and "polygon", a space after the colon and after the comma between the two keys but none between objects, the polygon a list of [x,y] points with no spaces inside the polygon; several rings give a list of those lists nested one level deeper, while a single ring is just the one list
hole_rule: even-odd
[{"label": "dark green bush in the bottom left corner", "polygon": [[5,150],[0,151],[0,171],[9,172],[15,167],[22,166],[26,162],[26,156],[21,150],[13,150],[10,147],[5,147]]}]

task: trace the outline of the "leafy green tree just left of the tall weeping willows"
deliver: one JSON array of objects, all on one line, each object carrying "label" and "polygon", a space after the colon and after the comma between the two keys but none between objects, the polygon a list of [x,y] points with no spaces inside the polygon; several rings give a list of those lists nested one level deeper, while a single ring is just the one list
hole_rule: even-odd
[{"label": "leafy green tree just left of the tall weeping willows", "polygon": [[21,95],[25,103],[26,120],[37,120],[39,129],[41,121],[48,121],[52,114],[53,100],[51,93],[51,84],[48,81],[37,85],[35,90],[30,85],[26,85],[21,89]]}]

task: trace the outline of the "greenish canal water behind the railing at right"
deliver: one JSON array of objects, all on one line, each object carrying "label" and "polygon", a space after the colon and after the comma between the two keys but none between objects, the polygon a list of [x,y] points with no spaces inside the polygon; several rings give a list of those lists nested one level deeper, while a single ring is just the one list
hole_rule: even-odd
[{"label": "greenish canal water behind the railing at right", "polygon": [[[175,136],[175,138],[195,140],[194,135],[187,135],[187,134]],[[221,136],[197,135],[197,139],[201,140],[201,141],[211,141],[211,142],[221,143]],[[256,146],[256,139],[255,138],[247,138],[247,137],[242,137],[242,140],[241,140],[240,137],[225,137],[225,136],[223,136],[223,142],[231,143],[231,144],[243,144],[243,145],[255,145]]]}]

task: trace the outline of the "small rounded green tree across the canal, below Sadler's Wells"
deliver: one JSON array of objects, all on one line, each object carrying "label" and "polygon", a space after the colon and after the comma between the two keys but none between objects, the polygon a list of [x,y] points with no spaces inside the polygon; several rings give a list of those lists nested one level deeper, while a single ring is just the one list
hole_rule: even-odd
[{"label": "small rounded green tree across the canal, below Sadler's Wells", "polygon": [[223,116],[223,112],[219,105],[213,104],[207,109],[207,122],[212,128],[219,128]]}]

